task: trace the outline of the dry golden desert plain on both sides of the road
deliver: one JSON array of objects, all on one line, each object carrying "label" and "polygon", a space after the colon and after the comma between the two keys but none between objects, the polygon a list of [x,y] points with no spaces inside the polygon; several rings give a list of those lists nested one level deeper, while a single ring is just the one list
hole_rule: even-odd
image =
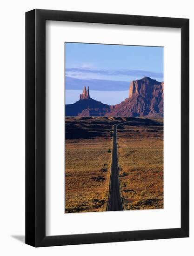
[{"label": "dry golden desert plain on both sides of the road", "polygon": [[[126,122],[127,121],[127,122]],[[163,120],[66,117],[65,213],[106,211],[117,128],[125,210],[163,208]]]}]

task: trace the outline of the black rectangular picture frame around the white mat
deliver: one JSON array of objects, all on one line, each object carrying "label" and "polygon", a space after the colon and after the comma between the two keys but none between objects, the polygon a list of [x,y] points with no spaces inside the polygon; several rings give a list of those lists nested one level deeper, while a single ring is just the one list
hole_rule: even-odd
[{"label": "black rectangular picture frame around the white mat", "polygon": [[[181,228],[46,236],[46,20],[181,28]],[[34,9],[26,13],[26,243],[34,247],[189,236],[189,19]]]}]

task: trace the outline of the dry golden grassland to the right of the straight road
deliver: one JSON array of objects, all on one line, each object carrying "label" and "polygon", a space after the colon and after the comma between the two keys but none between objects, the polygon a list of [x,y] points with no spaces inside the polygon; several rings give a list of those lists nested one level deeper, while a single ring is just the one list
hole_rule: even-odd
[{"label": "dry golden grassland to the right of the straight road", "polygon": [[125,210],[163,208],[163,121],[118,126],[120,193]]}]

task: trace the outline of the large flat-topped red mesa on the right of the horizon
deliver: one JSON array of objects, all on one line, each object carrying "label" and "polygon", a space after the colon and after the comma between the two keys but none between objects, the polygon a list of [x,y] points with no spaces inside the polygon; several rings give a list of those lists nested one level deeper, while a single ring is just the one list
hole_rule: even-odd
[{"label": "large flat-topped red mesa on the right of the horizon", "polygon": [[150,77],[132,81],[129,95],[106,113],[107,116],[163,116],[164,83]]}]

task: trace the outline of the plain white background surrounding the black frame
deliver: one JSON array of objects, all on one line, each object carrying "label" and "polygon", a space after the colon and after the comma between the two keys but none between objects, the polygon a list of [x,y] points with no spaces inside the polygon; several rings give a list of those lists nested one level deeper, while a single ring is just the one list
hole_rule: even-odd
[{"label": "plain white background surrounding the black frame", "polygon": [[50,248],[24,244],[25,230],[25,12],[34,8],[190,19],[190,129],[194,130],[194,15],[192,0],[7,0],[0,12],[0,254],[193,255],[194,133],[190,134],[190,238]]}]

